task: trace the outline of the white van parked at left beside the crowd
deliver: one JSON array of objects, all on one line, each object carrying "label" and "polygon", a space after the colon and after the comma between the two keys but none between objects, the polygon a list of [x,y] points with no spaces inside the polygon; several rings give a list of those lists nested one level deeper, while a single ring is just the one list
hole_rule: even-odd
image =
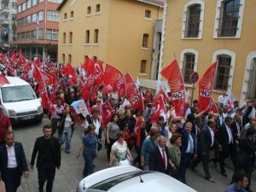
[{"label": "white van parked at left beside the crowd", "polygon": [[1,86],[0,105],[12,124],[28,119],[42,121],[43,108],[30,84],[16,77],[7,79],[10,84]]}]

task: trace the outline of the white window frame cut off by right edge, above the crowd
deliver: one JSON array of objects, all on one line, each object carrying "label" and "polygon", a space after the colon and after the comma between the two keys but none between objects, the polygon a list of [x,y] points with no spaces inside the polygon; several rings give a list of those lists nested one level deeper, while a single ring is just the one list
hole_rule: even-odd
[{"label": "white window frame cut off by right edge, above the crowd", "polygon": [[246,102],[247,99],[247,85],[249,82],[249,76],[250,76],[250,69],[251,69],[251,64],[253,58],[256,58],[256,50],[248,53],[247,55],[247,61],[246,61],[246,66],[244,69],[244,76],[243,76],[243,83],[242,83],[242,88],[241,88],[241,98],[240,102]]}]

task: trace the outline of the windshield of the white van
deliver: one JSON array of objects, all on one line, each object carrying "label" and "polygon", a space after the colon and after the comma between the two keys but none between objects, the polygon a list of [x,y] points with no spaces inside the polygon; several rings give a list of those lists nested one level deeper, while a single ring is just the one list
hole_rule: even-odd
[{"label": "windshield of the white van", "polygon": [[21,102],[36,99],[29,85],[2,87],[3,102]]}]

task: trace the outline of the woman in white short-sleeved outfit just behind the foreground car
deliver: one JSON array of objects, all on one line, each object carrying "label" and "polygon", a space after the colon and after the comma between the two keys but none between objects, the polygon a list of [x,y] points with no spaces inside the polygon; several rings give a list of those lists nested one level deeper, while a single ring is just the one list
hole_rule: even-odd
[{"label": "woman in white short-sleeved outfit just behind the foreground car", "polygon": [[128,166],[132,164],[132,161],[130,150],[125,142],[125,133],[119,131],[117,141],[111,148],[109,166]]}]

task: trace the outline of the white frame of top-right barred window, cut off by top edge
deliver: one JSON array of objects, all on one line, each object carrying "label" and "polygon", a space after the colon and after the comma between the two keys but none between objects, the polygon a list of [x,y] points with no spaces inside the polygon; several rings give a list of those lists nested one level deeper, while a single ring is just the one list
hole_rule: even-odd
[{"label": "white frame of top-right barred window, cut off by top edge", "polygon": [[218,37],[220,7],[221,7],[221,4],[222,4],[223,1],[224,0],[217,0],[213,38],[241,38],[241,26],[242,26],[245,0],[240,0],[241,6],[240,6],[240,9],[239,9],[239,20],[238,20],[238,23],[237,23],[236,36],[234,36],[234,37]]}]

